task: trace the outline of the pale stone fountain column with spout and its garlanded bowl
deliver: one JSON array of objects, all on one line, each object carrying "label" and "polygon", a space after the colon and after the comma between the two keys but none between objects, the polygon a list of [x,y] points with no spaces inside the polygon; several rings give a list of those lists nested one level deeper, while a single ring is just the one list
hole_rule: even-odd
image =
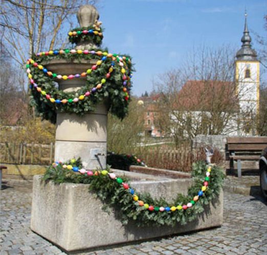
[{"label": "pale stone fountain column with spout and its garlanded bowl", "polygon": [[[49,70],[69,75],[85,72],[96,61],[53,60],[46,66]],[[85,85],[85,78],[57,80],[59,89],[71,92]],[[67,161],[81,157],[86,169],[106,168],[107,107],[104,103],[96,106],[93,113],[83,116],[57,113],[55,161]]]}]

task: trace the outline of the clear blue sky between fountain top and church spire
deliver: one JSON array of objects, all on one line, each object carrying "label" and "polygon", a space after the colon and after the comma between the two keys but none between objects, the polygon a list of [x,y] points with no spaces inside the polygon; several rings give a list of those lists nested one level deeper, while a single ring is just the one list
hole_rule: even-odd
[{"label": "clear blue sky between fountain top and church spire", "polygon": [[132,57],[132,93],[138,96],[199,45],[238,49],[245,9],[253,47],[254,32],[266,36],[266,0],[100,0],[97,9],[105,29],[102,45]]}]

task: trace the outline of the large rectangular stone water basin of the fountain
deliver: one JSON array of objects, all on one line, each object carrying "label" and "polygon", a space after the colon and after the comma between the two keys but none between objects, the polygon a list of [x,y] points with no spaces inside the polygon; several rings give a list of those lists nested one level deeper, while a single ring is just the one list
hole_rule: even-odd
[{"label": "large rectangular stone water basin of the fountain", "polygon": [[[169,201],[178,192],[186,194],[192,185],[188,178],[170,179],[122,170],[114,172],[130,177],[131,187],[138,192],[150,192],[152,197],[162,196]],[[123,226],[115,211],[107,213],[101,209],[104,204],[95,194],[88,192],[89,185],[44,184],[41,177],[35,175],[33,179],[31,229],[68,252],[187,233],[222,224],[222,191],[204,213],[187,225],[137,227],[133,221]]]}]

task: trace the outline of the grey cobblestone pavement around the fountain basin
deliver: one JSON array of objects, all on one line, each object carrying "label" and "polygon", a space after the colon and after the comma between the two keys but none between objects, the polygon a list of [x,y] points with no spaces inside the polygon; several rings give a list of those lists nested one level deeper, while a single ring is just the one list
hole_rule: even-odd
[{"label": "grey cobblestone pavement around the fountain basin", "polygon": [[[8,184],[0,191],[1,254],[65,254],[29,228],[31,183]],[[225,192],[219,228],[80,254],[267,254],[267,206],[260,197]]]}]

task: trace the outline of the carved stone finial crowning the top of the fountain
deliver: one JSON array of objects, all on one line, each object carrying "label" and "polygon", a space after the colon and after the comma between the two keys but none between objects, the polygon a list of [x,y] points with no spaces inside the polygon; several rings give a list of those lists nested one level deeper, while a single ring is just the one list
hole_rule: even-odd
[{"label": "carved stone finial crowning the top of the fountain", "polygon": [[89,27],[95,23],[96,19],[99,19],[99,13],[93,5],[83,5],[79,8],[77,19],[80,27]]}]

